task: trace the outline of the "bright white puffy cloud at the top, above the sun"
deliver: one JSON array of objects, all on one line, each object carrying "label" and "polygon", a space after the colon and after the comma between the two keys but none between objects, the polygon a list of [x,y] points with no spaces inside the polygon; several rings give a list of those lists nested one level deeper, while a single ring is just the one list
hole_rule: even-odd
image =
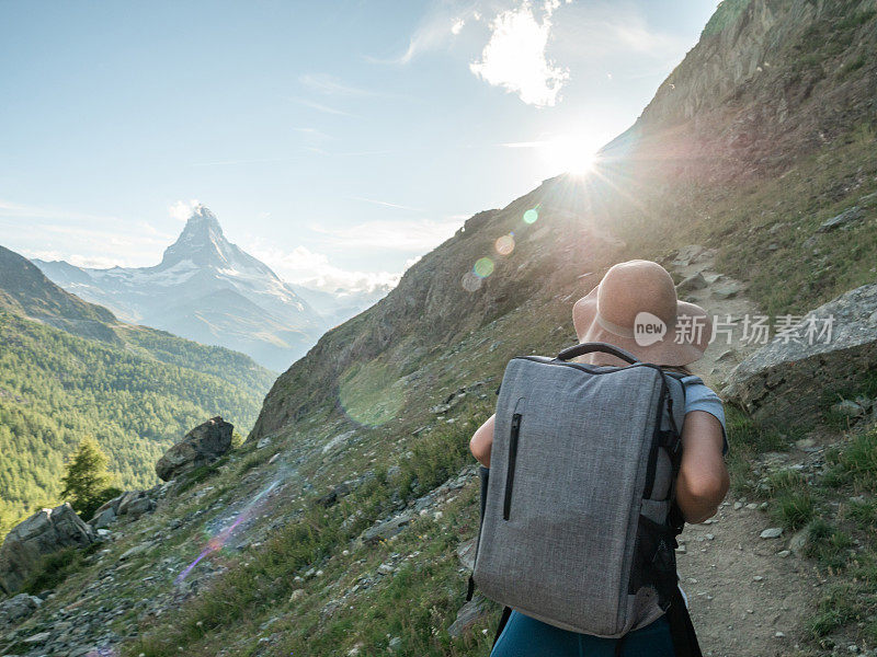
[{"label": "bright white puffy cloud at the top, above the sun", "polygon": [[501,12],[490,24],[490,41],[481,60],[469,65],[471,72],[489,84],[516,93],[528,105],[556,105],[569,80],[569,70],[546,57],[551,14],[558,5],[556,1],[546,2],[542,22],[528,1]]}]

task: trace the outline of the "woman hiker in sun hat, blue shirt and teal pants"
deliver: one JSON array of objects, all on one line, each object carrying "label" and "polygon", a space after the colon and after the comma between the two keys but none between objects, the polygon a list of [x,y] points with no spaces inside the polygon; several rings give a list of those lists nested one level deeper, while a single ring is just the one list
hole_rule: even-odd
[{"label": "woman hiker in sun hat, blue shirt and teal pants", "polygon": [[[648,346],[641,346],[639,342],[647,341],[638,342],[634,334],[635,319],[641,312],[660,319],[667,326],[663,337]],[[677,326],[677,319],[685,325]],[[676,299],[673,279],[661,265],[636,260],[610,268],[600,285],[574,304],[572,321],[580,343],[610,343],[639,360],[687,374],[682,379],[685,422],[676,503],[686,522],[703,522],[710,518],[728,492],[729,477],[724,460],[728,446],[721,401],[687,369],[703,356],[710,338],[711,324],[704,309]],[[627,365],[607,354],[593,353],[581,358],[591,365]],[[490,468],[494,417],[481,425],[469,442],[472,454],[485,468]],[[617,645],[618,642],[617,638],[561,630],[512,611],[491,657],[674,655],[665,615],[645,626],[635,625],[623,644]]]}]

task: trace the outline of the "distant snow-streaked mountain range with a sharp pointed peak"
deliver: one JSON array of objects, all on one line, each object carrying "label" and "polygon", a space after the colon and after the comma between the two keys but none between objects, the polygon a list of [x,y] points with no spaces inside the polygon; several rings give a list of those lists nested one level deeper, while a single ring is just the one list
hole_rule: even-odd
[{"label": "distant snow-streaked mountain range with a sharp pointed peak", "polygon": [[33,262],[57,285],[124,321],[242,351],[275,371],[289,367],[327,328],[376,300],[374,295],[337,296],[284,283],[230,243],[204,206],[193,209],[178,240],[151,267]]}]

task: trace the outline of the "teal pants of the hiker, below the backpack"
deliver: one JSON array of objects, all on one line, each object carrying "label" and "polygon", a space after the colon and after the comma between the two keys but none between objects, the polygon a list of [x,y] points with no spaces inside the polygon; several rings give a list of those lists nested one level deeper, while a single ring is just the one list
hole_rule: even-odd
[{"label": "teal pants of the hiker, below the backpack", "polygon": [[561,630],[512,611],[490,657],[673,657],[667,616],[625,636],[620,653],[617,644],[617,638]]}]

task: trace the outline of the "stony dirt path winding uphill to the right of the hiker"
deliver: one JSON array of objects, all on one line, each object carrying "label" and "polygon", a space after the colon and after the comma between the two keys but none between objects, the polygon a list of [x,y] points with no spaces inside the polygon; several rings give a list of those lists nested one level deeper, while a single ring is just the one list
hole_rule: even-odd
[{"label": "stony dirt path winding uphill to the right of the hiker", "polygon": [[[693,368],[720,390],[731,369],[760,346],[741,339],[743,316],[758,315],[759,309],[739,281],[714,269],[715,254],[708,250],[685,247],[668,266],[682,278],[695,277],[680,298],[702,306],[710,318],[737,320],[730,344],[719,334]],[[713,519],[687,526],[681,537],[680,577],[701,647],[713,657],[794,655],[818,579],[787,551],[788,535],[760,538],[772,527],[767,515],[740,502],[729,495]]]}]

